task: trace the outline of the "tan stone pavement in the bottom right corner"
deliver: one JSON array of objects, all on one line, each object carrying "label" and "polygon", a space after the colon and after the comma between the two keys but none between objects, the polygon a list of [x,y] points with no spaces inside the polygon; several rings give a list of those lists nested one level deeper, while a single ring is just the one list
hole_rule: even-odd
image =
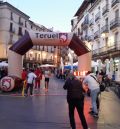
[{"label": "tan stone pavement in the bottom right corner", "polygon": [[111,90],[101,95],[97,129],[120,129],[120,99]]}]

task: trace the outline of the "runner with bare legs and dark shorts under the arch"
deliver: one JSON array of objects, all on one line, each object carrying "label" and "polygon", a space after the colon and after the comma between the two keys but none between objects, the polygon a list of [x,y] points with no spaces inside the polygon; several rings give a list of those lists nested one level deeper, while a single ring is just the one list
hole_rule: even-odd
[{"label": "runner with bare legs and dark shorts under the arch", "polygon": [[49,68],[45,69],[44,76],[45,76],[45,91],[48,91],[49,78],[51,76],[51,72],[50,72]]}]

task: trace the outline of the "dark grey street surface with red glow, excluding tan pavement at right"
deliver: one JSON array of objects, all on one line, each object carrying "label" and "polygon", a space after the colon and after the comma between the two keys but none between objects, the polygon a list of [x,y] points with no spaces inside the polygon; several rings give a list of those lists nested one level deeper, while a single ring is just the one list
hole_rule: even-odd
[{"label": "dark grey street surface with red glow, excluding tan pavement at right", "polygon": [[[66,91],[63,80],[52,77],[49,91],[35,91],[33,97],[10,94],[0,96],[1,129],[67,129],[69,126]],[[90,98],[85,99],[85,116],[91,129],[97,128],[97,120],[88,114]],[[77,128],[82,129],[77,112]]]}]

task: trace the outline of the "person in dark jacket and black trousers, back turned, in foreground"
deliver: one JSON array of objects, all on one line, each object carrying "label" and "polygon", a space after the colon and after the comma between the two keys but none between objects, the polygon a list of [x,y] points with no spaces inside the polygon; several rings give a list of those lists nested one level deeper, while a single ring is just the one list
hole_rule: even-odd
[{"label": "person in dark jacket and black trousers, back turned, in foreground", "polygon": [[69,108],[69,119],[72,129],[76,129],[74,111],[75,108],[79,114],[83,129],[88,129],[88,125],[84,116],[84,89],[82,83],[70,73],[63,88],[67,90],[67,102]]}]

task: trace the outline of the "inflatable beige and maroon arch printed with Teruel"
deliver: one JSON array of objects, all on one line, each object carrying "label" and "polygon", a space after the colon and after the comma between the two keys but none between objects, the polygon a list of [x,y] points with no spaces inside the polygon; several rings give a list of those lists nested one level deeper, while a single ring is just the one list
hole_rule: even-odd
[{"label": "inflatable beige and maroon arch printed with Teruel", "polygon": [[[42,46],[68,46],[78,56],[79,71],[91,69],[91,54],[87,46],[73,33],[61,32],[27,32],[13,46],[8,53],[8,76],[21,78],[22,56],[33,47]],[[9,79],[10,80],[10,79]],[[3,81],[5,82],[5,81]],[[10,91],[11,89],[7,89]]]}]

